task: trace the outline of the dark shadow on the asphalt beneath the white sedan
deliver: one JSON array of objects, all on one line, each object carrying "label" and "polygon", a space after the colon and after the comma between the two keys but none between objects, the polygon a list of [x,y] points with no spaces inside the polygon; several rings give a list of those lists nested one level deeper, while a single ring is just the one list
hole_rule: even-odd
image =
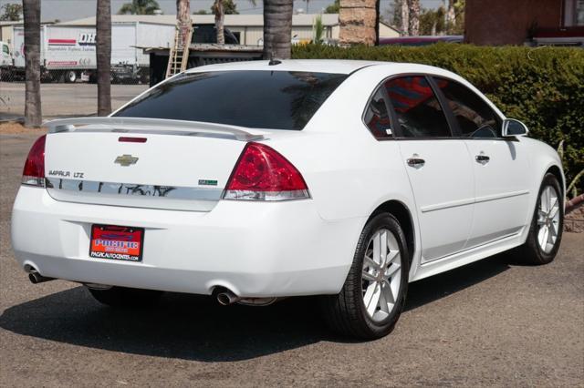
[{"label": "dark shadow on the asphalt beneath the white sedan", "polygon": [[[416,281],[406,311],[508,268],[494,257]],[[241,361],[320,341],[349,341],[328,332],[315,298],[290,298],[262,308],[224,307],[204,296],[166,293],[157,306],[120,311],[101,306],[84,287],[10,307],[0,316],[0,327],[90,348],[201,362]]]}]

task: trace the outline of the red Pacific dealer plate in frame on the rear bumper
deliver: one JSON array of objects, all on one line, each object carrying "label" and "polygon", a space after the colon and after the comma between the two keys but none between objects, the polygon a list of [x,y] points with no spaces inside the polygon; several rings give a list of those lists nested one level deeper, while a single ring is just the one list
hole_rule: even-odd
[{"label": "red Pacific dealer plate in frame on the rear bumper", "polygon": [[141,262],[144,228],[91,224],[89,258]]}]

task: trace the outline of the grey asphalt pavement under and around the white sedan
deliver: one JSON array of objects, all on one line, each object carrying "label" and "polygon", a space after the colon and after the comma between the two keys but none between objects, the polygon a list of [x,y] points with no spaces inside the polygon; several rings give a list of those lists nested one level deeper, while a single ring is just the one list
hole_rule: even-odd
[{"label": "grey asphalt pavement under and around the white sedan", "polygon": [[[4,91],[4,90],[3,90]],[[328,332],[310,298],[223,307],[167,294],[113,311],[75,283],[33,285],[10,247],[10,211],[35,133],[0,127],[0,385],[582,386],[584,235],[543,267],[500,255],[412,283],[390,336]]]}]

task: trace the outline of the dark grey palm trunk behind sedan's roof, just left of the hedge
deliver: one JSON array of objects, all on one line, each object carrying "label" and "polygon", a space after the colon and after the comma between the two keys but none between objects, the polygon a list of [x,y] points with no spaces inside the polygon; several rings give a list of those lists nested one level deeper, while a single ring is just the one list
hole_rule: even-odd
[{"label": "dark grey palm trunk behind sedan's roof, just left of the hedge", "polygon": [[264,0],[264,58],[288,59],[292,48],[293,0]]}]

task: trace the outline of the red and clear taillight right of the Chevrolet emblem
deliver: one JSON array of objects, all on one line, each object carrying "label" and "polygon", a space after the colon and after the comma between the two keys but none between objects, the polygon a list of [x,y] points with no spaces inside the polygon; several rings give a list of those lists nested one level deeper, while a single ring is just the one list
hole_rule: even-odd
[{"label": "red and clear taillight right of the Chevrolet emblem", "polygon": [[308,199],[308,187],[287,158],[264,144],[247,143],[227,182],[224,199]]}]

